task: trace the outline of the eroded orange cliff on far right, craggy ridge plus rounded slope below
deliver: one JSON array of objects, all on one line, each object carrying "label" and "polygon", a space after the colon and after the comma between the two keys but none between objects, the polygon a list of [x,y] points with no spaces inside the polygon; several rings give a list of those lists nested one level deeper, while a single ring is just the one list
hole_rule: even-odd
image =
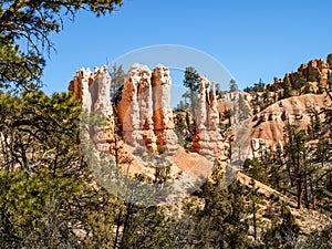
[{"label": "eroded orange cliff on far right, craggy ridge plus rounded slope below", "polygon": [[[286,89],[289,89],[291,97],[283,96]],[[248,92],[253,97],[249,102],[253,115],[249,122],[250,146],[241,153],[246,157],[257,157],[261,149],[276,148],[277,144],[282,146],[287,123],[298,124],[310,132],[315,115],[331,104],[325,89],[332,89],[332,53],[326,61],[314,59],[301,64],[295,72],[286,73],[283,79],[276,77],[274,83],[261,87],[256,85],[253,91],[249,87]],[[225,110],[225,103],[219,105]],[[323,115],[320,118],[323,121]]]}]

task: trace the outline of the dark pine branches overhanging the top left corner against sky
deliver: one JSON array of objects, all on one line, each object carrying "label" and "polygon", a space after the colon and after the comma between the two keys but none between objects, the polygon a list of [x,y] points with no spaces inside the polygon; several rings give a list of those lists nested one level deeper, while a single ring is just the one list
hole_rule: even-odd
[{"label": "dark pine branches overhanging the top left corner against sky", "polygon": [[1,90],[31,90],[42,85],[45,55],[54,49],[50,34],[64,28],[64,17],[73,20],[79,10],[101,17],[122,4],[122,0],[1,1]]}]

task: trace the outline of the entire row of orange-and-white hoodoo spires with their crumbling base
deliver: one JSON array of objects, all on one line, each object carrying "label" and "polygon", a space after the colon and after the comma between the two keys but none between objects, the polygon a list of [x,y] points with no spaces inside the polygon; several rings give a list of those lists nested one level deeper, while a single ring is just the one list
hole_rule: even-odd
[{"label": "entire row of orange-and-white hoodoo spires with their crumbling base", "polygon": [[[175,172],[190,172],[194,167],[196,169],[193,172],[197,176],[206,177],[207,172],[211,170],[211,163],[205,159],[205,164],[197,165],[199,156],[212,159],[210,162],[215,158],[225,160],[216,86],[212,84],[209,92],[209,84],[206,77],[201,79],[199,117],[193,142],[196,153],[186,152],[178,145],[170,108],[172,79],[169,69],[162,64],[156,65],[153,71],[146,65],[134,64],[125,75],[122,98],[117,106],[111,104],[111,76],[106,66],[96,68],[94,72],[89,69],[80,70],[71,81],[69,90],[76,100],[82,101],[86,112],[106,120],[105,126],[91,127],[96,151],[113,157],[116,148],[117,153],[127,154],[125,159],[132,162],[131,173],[153,174],[145,168],[146,162],[135,157],[137,148],[145,148],[155,155],[166,154],[177,168]],[[197,162],[187,165],[183,158]]]}]

